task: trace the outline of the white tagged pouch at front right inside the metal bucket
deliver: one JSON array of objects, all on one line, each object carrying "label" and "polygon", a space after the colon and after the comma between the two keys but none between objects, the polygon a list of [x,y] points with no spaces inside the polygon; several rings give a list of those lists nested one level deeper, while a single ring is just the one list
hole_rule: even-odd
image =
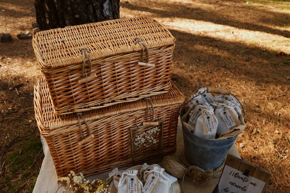
[{"label": "white tagged pouch at front right inside the metal bucket", "polygon": [[233,128],[241,125],[239,116],[235,110],[235,106],[236,105],[234,103],[226,101],[223,105],[215,110],[214,115],[218,119],[218,136],[227,133]]}]

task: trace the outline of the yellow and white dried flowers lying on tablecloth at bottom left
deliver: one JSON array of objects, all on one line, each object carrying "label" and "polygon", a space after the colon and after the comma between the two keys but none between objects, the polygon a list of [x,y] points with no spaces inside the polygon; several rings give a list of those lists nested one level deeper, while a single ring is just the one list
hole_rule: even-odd
[{"label": "yellow and white dried flowers lying on tablecloth at bottom left", "polygon": [[74,171],[68,177],[59,178],[58,182],[65,186],[64,193],[110,193],[104,180],[85,180],[82,173],[77,175]]}]

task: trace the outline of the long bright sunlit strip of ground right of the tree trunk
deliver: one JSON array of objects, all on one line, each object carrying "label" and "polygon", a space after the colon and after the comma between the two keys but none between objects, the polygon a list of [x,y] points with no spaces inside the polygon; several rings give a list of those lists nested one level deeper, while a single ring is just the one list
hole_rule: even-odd
[{"label": "long bright sunlit strip of ground right of the tree trunk", "polygon": [[290,53],[290,42],[284,36],[178,17],[164,18],[162,23],[169,29],[193,35],[208,36],[228,42],[259,46],[271,51]]}]

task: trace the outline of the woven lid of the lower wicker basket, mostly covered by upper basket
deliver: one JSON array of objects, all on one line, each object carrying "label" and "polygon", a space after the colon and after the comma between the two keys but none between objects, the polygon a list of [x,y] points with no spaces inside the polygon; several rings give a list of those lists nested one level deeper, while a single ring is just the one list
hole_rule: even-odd
[{"label": "woven lid of the lower wicker basket, mostly covered by upper basket", "polygon": [[[173,82],[167,93],[151,96],[154,108],[181,104],[184,102],[183,94],[177,89]],[[135,112],[147,109],[144,100],[137,100],[128,103],[119,103],[112,106],[94,109],[82,113],[86,121],[101,120],[106,117],[120,115],[128,112]],[[59,128],[79,124],[78,116],[73,114],[55,115],[53,112],[52,100],[49,88],[44,78],[38,80],[34,86],[34,110],[38,126],[42,131],[53,131]],[[82,123],[84,120],[82,120]]]}]

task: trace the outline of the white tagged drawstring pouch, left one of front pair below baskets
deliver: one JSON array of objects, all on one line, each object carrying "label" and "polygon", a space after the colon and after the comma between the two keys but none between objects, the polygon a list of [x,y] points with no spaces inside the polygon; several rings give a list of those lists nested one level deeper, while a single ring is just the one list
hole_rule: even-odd
[{"label": "white tagged drawstring pouch, left one of front pair below baskets", "polygon": [[138,170],[123,172],[118,182],[118,193],[141,193],[142,182],[137,176]]}]

